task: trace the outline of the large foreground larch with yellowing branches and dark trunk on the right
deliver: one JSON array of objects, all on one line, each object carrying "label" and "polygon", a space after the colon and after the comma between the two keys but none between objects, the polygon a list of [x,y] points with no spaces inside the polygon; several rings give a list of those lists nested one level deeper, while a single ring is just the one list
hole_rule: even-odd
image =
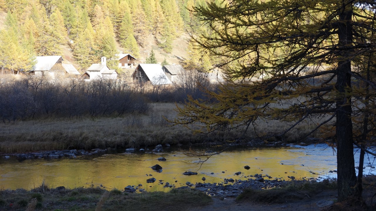
[{"label": "large foreground larch with yellowing branches and dark trunk on the right", "polygon": [[[243,1],[195,6],[212,33],[194,37],[226,69],[230,82],[210,101],[191,99],[177,124],[201,132],[257,128],[259,121],[304,121],[333,132],[338,200],[361,197],[353,144],[374,141],[374,1]],[[322,68],[324,67],[324,68]],[[247,79],[270,75],[262,82]],[[214,103],[211,103],[214,102]],[[271,134],[268,134],[270,136]],[[359,166],[359,169],[362,166]],[[358,178],[361,178],[359,175]]]}]

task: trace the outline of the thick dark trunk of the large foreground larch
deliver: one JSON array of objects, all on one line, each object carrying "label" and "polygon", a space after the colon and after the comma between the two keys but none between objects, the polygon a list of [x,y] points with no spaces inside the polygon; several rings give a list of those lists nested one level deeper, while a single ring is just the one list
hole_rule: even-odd
[{"label": "thick dark trunk of the large foreground larch", "polygon": [[[350,47],[352,45],[352,27],[350,24],[352,17],[352,3],[343,0],[343,11],[338,21],[338,46],[340,48]],[[337,138],[337,183],[338,183],[338,201],[344,201],[352,195],[356,185],[355,164],[353,155],[353,134],[352,134],[352,108],[351,96],[351,71],[350,55],[353,53],[348,50],[340,51],[338,55],[337,83],[335,85],[337,96],[337,120],[336,120],[336,138]]]}]

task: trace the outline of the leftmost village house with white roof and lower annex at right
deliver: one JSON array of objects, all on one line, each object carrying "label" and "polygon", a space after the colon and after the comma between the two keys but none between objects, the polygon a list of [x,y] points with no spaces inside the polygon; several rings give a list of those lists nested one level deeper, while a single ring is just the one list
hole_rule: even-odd
[{"label": "leftmost village house with white roof and lower annex at right", "polygon": [[30,70],[30,74],[50,76],[51,78],[58,76],[77,78],[81,75],[72,64],[63,62],[64,60],[61,56],[36,57],[35,68]]}]

